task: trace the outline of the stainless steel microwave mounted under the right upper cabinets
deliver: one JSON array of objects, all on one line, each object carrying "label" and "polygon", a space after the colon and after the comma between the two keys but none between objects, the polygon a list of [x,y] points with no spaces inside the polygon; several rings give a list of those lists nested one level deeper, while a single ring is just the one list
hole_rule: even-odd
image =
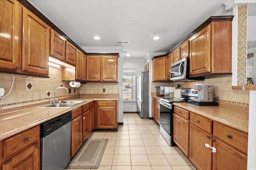
[{"label": "stainless steel microwave mounted under the right upper cabinets", "polygon": [[192,81],[204,80],[204,77],[189,77],[189,57],[180,59],[171,64],[170,80],[172,81]]}]

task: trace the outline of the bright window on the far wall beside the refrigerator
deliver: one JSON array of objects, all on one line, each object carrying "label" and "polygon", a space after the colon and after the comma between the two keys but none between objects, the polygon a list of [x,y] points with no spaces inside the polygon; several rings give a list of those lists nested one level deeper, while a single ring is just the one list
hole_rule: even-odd
[{"label": "bright window on the far wall beside the refrigerator", "polygon": [[136,101],[135,69],[123,69],[123,101]]}]

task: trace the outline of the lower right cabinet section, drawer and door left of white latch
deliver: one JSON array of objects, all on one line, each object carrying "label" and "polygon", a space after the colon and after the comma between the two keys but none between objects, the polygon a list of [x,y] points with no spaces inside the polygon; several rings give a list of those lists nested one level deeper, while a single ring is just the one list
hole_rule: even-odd
[{"label": "lower right cabinet section, drawer and door left of white latch", "polygon": [[212,169],[212,150],[206,143],[212,146],[212,121],[190,113],[189,160],[198,170]]}]

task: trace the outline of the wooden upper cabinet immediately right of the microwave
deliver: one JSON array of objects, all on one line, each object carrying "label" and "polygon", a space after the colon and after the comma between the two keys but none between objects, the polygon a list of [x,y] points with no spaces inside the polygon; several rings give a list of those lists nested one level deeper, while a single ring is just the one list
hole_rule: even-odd
[{"label": "wooden upper cabinet immediately right of the microwave", "polygon": [[190,76],[231,73],[232,21],[211,22],[189,40]]}]

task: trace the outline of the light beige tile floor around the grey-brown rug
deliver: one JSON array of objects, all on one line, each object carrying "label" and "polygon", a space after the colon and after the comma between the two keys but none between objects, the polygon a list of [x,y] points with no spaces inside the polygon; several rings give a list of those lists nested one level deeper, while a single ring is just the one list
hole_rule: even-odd
[{"label": "light beige tile floor around the grey-brown rug", "polygon": [[168,145],[156,121],[137,113],[124,113],[118,132],[92,132],[89,138],[108,138],[96,170],[196,170],[177,146]]}]

